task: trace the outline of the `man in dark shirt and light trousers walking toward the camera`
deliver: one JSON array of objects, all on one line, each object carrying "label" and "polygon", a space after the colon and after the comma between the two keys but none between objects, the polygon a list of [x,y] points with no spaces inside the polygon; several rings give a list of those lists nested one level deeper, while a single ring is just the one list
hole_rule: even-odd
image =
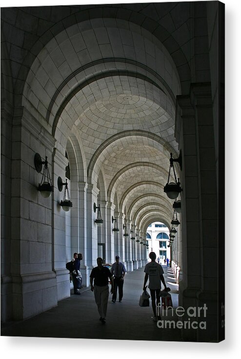
[{"label": "man in dark shirt and light trousers walking toward the camera", "polygon": [[[105,323],[107,304],[109,297],[109,279],[111,282],[111,293],[114,292],[113,278],[110,269],[103,266],[102,258],[97,258],[97,267],[93,268],[90,273],[90,290],[94,292],[95,301],[100,314],[100,320]],[[94,281],[94,286],[93,286]]]}]

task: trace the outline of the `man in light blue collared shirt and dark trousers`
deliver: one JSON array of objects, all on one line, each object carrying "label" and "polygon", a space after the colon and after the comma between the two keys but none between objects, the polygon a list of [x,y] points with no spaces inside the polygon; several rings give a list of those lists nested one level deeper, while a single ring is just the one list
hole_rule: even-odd
[{"label": "man in light blue collared shirt and dark trousers", "polygon": [[122,302],[123,297],[123,285],[124,285],[124,276],[126,273],[125,266],[120,262],[119,255],[116,256],[116,262],[112,265],[111,274],[114,274],[114,293],[112,295],[112,302],[115,303],[117,299],[117,290],[119,292],[119,302]]}]

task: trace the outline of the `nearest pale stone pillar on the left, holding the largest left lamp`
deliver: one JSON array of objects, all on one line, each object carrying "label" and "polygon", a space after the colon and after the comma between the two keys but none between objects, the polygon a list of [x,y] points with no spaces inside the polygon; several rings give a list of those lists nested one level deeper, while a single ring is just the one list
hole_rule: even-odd
[{"label": "nearest pale stone pillar on the left, holding the largest left lamp", "polygon": [[[35,153],[39,153],[42,160],[47,156],[52,172],[54,144],[52,135],[29,112],[23,108],[16,109],[9,183],[11,203],[8,204],[11,205],[12,216],[11,223],[9,220],[11,240],[8,247],[5,247],[4,241],[1,247],[2,253],[9,250],[6,253],[7,267],[1,267],[4,268],[1,270],[4,282],[1,283],[1,305],[5,306],[8,319],[22,320],[57,305],[51,217],[53,195],[50,198],[40,195],[37,188],[42,172],[37,173],[34,165]],[[6,155],[5,152],[3,154]],[[6,190],[10,190],[9,186]]]}]

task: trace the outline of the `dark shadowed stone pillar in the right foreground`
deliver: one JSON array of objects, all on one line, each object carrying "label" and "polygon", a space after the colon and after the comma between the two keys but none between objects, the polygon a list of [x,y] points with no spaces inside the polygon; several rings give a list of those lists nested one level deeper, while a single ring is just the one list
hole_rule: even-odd
[{"label": "dark shadowed stone pillar in the right foreground", "polygon": [[[206,329],[183,330],[184,340],[215,341],[222,293],[218,272],[218,201],[210,84],[194,84],[178,96],[177,141],[182,149],[182,280],[180,305],[207,307]],[[183,320],[186,319],[183,316]]]}]

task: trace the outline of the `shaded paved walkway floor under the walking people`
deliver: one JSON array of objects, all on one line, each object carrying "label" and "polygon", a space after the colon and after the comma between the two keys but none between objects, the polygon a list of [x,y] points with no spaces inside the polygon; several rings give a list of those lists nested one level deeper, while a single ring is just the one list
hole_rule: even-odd
[{"label": "shaded paved walkway floor under the walking people", "polygon": [[[144,268],[129,272],[124,280],[122,302],[111,302],[109,295],[106,323],[102,324],[89,288],[81,295],[61,300],[58,307],[30,319],[1,325],[1,336],[57,337],[125,340],[181,341],[180,329],[160,329],[152,320],[152,307],[140,307],[139,298],[144,280]],[[178,286],[170,268],[163,265],[167,286],[171,288],[173,306],[178,306]],[[171,318],[171,311],[168,313]],[[162,316],[162,319],[166,317]]]}]

